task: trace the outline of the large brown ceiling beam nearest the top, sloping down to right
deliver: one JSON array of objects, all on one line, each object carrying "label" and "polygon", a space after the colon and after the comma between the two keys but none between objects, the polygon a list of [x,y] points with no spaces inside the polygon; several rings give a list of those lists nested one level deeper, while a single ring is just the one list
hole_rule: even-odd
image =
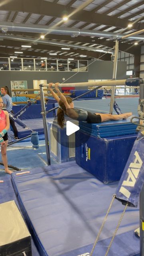
[{"label": "large brown ceiling beam nearest the top, sloping down to right", "polygon": [[[31,12],[35,14],[41,14],[56,18],[62,18],[64,14],[65,6],[61,4],[54,4],[52,2],[41,0],[13,0],[12,2],[5,2],[0,6],[0,10],[17,11],[17,12]],[[66,7],[66,14],[69,15],[76,11],[76,8]],[[113,16],[107,16],[99,13],[91,13],[86,10],[80,10],[80,12],[74,13],[70,18],[74,21],[84,21],[89,23],[103,24],[107,26],[113,26],[116,24],[119,28],[126,28],[128,26],[128,20],[116,18]],[[144,24],[135,23],[133,28],[144,29]]]}]

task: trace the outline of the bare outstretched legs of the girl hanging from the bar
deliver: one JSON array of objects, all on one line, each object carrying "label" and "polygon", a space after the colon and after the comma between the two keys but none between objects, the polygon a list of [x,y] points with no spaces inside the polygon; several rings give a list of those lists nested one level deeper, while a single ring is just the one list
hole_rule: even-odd
[{"label": "bare outstretched legs of the girl hanging from the bar", "polygon": [[111,114],[101,114],[101,113],[96,113],[96,115],[100,115],[102,118],[102,122],[110,121],[110,120],[120,120],[120,119],[126,119],[129,116],[132,115],[132,112],[130,113],[124,113],[124,114],[116,114],[116,115],[111,115]]}]

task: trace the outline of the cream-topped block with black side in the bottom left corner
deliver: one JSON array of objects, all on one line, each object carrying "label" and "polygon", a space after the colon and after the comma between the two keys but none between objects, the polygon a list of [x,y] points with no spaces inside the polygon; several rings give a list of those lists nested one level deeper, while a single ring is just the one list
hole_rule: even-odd
[{"label": "cream-topped block with black side in the bottom left corner", "polygon": [[14,201],[0,204],[0,255],[32,256],[30,232]]}]

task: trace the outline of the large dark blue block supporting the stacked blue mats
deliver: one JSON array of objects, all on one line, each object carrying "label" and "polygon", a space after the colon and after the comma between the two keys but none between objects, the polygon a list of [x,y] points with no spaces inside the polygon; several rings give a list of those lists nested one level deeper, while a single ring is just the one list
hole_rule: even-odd
[{"label": "large dark blue block supporting the stacked blue mats", "polygon": [[103,183],[120,180],[137,135],[96,138],[76,133],[76,163]]}]

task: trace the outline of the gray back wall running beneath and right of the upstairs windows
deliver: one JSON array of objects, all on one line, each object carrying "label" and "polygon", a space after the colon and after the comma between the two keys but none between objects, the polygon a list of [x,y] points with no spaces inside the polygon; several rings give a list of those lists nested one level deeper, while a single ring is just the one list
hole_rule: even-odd
[{"label": "gray back wall running beneath and right of the upstairs windows", "polygon": [[[88,63],[90,64],[90,62]],[[10,81],[27,81],[28,89],[33,88],[33,80],[66,83],[88,82],[92,79],[112,79],[112,61],[95,61],[88,66],[88,72],[56,72],[56,71],[0,71],[0,87],[7,85],[11,90]],[[73,76],[74,75],[74,76]],[[72,76],[72,77],[71,77]],[[126,79],[126,62],[118,62],[117,79]],[[79,89],[78,87],[76,88]],[[86,87],[80,87],[86,89]]]}]

